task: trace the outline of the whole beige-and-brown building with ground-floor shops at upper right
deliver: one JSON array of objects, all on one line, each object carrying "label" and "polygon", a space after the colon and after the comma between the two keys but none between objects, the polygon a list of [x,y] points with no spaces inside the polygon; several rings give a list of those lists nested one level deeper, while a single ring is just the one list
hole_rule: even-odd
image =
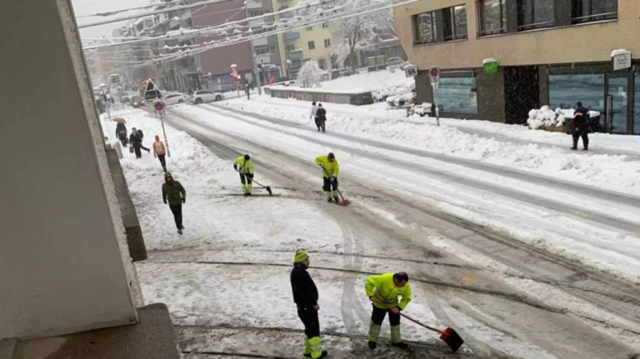
[{"label": "whole beige-and-brown building with ground-floor shops at upper right", "polygon": [[441,68],[444,116],[522,123],[530,109],[582,101],[601,112],[603,131],[640,134],[639,9],[639,0],[423,0],[394,16],[419,69],[418,101],[433,100],[427,70]]}]

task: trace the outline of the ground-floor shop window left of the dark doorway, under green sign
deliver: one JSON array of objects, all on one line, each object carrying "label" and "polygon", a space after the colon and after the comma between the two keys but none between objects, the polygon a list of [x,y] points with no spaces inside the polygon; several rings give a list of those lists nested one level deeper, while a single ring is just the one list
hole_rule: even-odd
[{"label": "ground-floor shop window left of the dark doorway, under green sign", "polygon": [[475,77],[441,77],[436,99],[442,112],[478,114]]}]

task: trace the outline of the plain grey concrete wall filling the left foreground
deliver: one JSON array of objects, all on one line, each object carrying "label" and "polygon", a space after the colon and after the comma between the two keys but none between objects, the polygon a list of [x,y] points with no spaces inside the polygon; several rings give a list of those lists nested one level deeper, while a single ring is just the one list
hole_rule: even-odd
[{"label": "plain grey concrete wall filling the left foreground", "polygon": [[0,1],[0,339],[137,321],[69,0]]}]

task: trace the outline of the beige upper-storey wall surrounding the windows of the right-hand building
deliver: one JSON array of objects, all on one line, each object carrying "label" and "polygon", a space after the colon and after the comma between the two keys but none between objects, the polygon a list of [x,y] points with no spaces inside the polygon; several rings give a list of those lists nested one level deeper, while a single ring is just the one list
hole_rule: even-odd
[{"label": "beige upper-storey wall surrounding the windows of the right-hand building", "polygon": [[[568,0],[565,0],[568,1]],[[507,3],[515,1],[507,1]],[[413,45],[412,15],[466,4],[468,40]],[[395,26],[410,62],[424,70],[481,67],[494,57],[500,65],[610,61],[612,50],[631,50],[640,57],[640,0],[619,0],[618,20],[565,28],[494,35],[479,38],[475,0],[422,0],[394,8]]]}]

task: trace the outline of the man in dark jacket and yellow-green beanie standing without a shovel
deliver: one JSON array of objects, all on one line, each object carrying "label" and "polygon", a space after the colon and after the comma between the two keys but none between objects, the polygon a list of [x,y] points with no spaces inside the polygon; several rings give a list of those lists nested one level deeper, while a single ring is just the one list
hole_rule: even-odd
[{"label": "man in dark jacket and yellow-green beanie standing without a shovel", "polygon": [[296,251],[294,268],[291,271],[291,289],[294,302],[298,307],[298,317],[304,324],[304,352],[307,358],[325,358],[320,341],[320,322],[318,320],[318,288],[306,269],[309,268],[309,255],[302,250]]}]

